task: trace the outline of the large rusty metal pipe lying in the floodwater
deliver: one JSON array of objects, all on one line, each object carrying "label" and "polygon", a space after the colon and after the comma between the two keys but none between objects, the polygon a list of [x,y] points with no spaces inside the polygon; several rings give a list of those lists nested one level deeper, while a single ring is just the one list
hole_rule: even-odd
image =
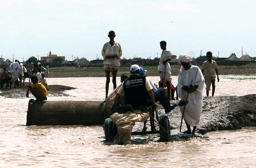
[{"label": "large rusty metal pipe lying in the floodwater", "polygon": [[110,109],[100,101],[28,103],[26,125],[102,125]]}]

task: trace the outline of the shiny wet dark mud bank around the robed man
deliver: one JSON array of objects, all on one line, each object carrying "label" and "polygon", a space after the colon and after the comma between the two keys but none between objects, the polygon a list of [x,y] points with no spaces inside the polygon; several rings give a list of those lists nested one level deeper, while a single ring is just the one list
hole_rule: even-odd
[{"label": "shiny wet dark mud bank around the robed man", "polygon": [[[175,108],[168,114],[170,124],[179,128],[181,114]],[[245,126],[256,126],[256,94],[244,96],[209,96],[203,97],[201,120],[197,133],[210,131],[240,129]],[[186,130],[185,122],[182,131]]]}]

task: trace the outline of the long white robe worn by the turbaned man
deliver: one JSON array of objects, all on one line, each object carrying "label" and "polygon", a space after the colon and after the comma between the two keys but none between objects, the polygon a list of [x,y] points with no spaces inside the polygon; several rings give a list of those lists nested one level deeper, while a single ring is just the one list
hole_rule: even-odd
[{"label": "long white robe worn by the turbaned man", "polygon": [[[192,83],[191,83],[192,80]],[[187,93],[187,91],[181,89],[183,86],[198,85],[198,88],[193,93]],[[188,94],[188,104],[185,108],[184,120],[191,126],[197,126],[200,121],[203,103],[203,85],[204,77],[198,66],[191,65],[188,70],[183,67],[178,76],[177,92],[181,100],[186,100]],[[183,111],[184,106],[180,109]]]}]

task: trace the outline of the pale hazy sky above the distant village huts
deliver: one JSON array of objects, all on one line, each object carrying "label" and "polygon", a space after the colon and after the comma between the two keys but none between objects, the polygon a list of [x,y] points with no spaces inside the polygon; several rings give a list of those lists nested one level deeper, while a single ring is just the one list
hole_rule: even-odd
[{"label": "pale hazy sky above the distant village huts", "polygon": [[114,30],[127,59],[179,55],[256,56],[255,0],[0,0],[0,55],[102,58]]}]

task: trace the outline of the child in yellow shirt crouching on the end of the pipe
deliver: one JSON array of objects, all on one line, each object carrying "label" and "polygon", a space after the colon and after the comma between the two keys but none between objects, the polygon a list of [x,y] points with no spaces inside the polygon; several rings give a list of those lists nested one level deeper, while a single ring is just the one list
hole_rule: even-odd
[{"label": "child in yellow shirt crouching on the end of the pipe", "polygon": [[32,83],[28,86],[26,97],[29,97],[29,91],[35,96],[36,100],[32,103],[38,103],[47,100],[48,92],[42,83],[38,81],[37,76],[31,77]]}]

